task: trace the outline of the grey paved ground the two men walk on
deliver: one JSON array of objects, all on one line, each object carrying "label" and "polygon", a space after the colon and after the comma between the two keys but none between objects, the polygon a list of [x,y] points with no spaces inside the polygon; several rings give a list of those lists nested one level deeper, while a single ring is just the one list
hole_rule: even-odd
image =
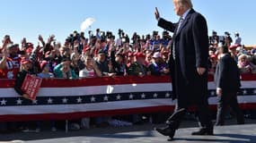
[{"label": "grey paved ground the two men walk on", "polygon": [[[154,131],[155,126],[134,125],[128,127],[94,128],[90,130],[69,131],[49,130],[40,133],[13,133],[0,135],[0,142],[28,143],[164,143],[166,137]],[[216,127],[214,136],[191,136],[192,131],[198,130],[196,122],[183,122],[181,129],[176,132],[173,143],[256,143],[256,120],[247,120],[244,125],[235,125],[234,121],[226,126]],[[1,142],[1,143],[2,143]]]}]

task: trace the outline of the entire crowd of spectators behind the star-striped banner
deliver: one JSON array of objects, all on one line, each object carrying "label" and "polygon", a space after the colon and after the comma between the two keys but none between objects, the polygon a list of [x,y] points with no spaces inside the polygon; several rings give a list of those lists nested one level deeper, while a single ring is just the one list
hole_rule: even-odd
[{"label": "entire crowd of spectators behind the star-striped banner", "polygon": [[[0,47],[0,79],[15,79],[14,89],[22,97],[28,98],[21,90],[22,80],[27,73],[40,78],[78,79],[90,77],[169,75],[169,56],[172,36],[167,31],[159,34],[132,38],[119,29],[119,37],[100,29],[70,34],[64,43],[51,35],[47,40],[38,37],[38,45],[22,39],[21,45],[14,44],[12,38],[4,36]],[[247,50],[242,38],[235,33],[235,41],[230,33],[217,36],[216,31],[209,37],[208,72],[215,73],[218,61],[217,49],[220,45],[229,47],[230,54],[242,74],[256,73],[256,49]],[[104,119],[103,119],[104,120]]]}]

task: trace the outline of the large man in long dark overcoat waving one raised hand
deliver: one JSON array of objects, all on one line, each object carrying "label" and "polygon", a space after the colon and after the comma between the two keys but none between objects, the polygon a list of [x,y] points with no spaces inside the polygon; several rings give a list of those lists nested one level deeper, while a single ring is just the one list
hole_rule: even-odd
[{"label": "large man in long dark overcoat waving one raised hand", "polygon": [[192,135],[213,135],[207,102],[207,21],[193,10],[190,0],[173,0],[173,4],[175,13],[181,17],[179,22],[163,20],[157,8],[154,15],[158,26],[173,32],[169,63],[172,96],[177,99],[177,104],[166,122],[167,125],[155,130],[172,139],[186,109],[190,105],[197,105],[201,127],[199,131],[192,132]]}]

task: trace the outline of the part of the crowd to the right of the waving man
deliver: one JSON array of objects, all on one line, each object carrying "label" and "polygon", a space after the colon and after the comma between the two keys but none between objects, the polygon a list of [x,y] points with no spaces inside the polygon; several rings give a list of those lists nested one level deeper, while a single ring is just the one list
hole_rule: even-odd
[{"label": "part of the crowd to the right of the waving man", "polygon": [[217,36],[216,31],[212,32],[212,36],[209,37],[209,74],[214,74],[216,63],[218,61],[217,49],[219,45],[225,45],[229,47],[231,56],[236,61],[241,74],[255,74],[256,73],[256,47],[247,49],[242,45],[242,38],[239,33],[234,33],[233,39],[230,37],[229,32],[225,32],[225,36]]}]

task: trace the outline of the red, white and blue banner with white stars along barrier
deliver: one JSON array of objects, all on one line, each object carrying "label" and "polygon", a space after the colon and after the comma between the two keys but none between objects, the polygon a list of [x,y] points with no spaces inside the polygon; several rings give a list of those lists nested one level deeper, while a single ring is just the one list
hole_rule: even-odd
[{"label": "red, white and blue banner with white stars along barrier", "polygon": [[[40,85],[40,80],[29,81],[31,87],[36,82]],[[17,95],[14,80],[0,80],[0,122],[170,112],[176,102],[172,100],[171,82],[170,76],[44,79],[36,99],[31,101]],[[242,77],[238,102],[243,109],[256,108],[255,85],[256,75]],[[208,80],[207,94],[209,105],[216,109],[212,78]]]}]

